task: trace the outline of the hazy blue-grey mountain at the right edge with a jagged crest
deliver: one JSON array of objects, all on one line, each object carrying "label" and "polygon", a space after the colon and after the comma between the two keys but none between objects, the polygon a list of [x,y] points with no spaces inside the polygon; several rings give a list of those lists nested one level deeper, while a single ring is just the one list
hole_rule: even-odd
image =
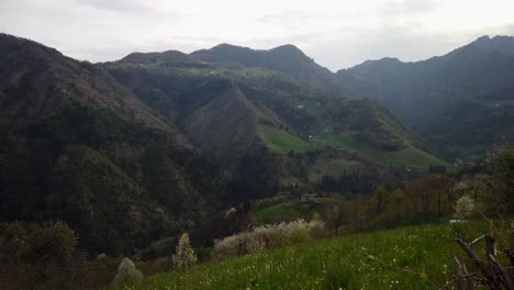
[{"label": "hazy blue-grey mountain at the right edge with a jagged crest", "polygon": [[513,141],[514,37],[483,36],[416,63],[368,60],[337,75],[354,96],[386,105],[448,158]]}]

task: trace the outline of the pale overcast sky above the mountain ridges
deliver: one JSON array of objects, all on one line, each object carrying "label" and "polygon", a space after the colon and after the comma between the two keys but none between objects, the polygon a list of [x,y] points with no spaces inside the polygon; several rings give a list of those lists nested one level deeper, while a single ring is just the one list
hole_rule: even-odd
[{"label": "pale overcast sky above the mountain ridges", "polygon": [[90,62],[219,43],[294,44],[332,70],[514,34],[514,0],[0,0],[0,32]]}]

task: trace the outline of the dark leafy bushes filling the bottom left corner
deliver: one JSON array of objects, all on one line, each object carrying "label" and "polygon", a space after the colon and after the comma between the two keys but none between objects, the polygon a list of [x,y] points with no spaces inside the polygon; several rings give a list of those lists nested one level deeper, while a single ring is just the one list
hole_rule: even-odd
[{"label": "dark leafy bushes filling the bottom left corner", "polygon": [[0,225],[1,289],[93,289],[112,281],[105,257],[88,261],[65,222]]}]

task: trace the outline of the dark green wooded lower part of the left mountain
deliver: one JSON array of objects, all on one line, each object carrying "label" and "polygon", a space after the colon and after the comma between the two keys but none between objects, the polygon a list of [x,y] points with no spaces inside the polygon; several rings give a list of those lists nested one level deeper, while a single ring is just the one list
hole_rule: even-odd
[{"label": "dark green wooded lower part of the left mountain", "polygon": [[2,135],[0,160],[0,219],[64,220],[91,255],[145,247],[179,220],[187,228],[231,182],[172,133],[79,103]]}]

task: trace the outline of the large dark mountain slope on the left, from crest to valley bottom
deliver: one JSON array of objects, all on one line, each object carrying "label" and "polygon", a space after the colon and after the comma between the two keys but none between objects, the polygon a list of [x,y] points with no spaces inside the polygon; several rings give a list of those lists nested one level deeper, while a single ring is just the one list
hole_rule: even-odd
[{"label": "large dark mountain slope on the left, from crest to valley bottom", "polygon": [[126,253],[223,199],[216,163],[105,70],[0,34],[0,221],[65,220],[90,253]]}]

